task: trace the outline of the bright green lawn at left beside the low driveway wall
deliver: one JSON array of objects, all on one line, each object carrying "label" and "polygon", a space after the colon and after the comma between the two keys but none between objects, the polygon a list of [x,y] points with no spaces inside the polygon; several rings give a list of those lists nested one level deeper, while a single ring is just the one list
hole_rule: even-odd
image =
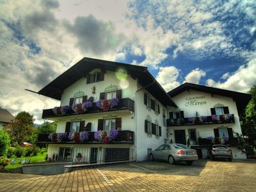
[{"label": "bright green lawn at left beside the low driveway wall", "polygon": [[[44,152],[44,153],[41,154],[41,151],[40,151],[40,152],[38,152],[38,154],[36,156],[31,156],[29,164],[48,163],[48,162],[45,162],[45,158],[47,155],[47,148],[42,148],[42,152]],[[10,170],[13,168],[19,168],[21,166],[21,164],[18,163],[19,160],[22,159],[22,161],[24,161],[25,159],[27,159],[27,157],[18,157],[18,158],[12,157],[12,158],[10,158],[10,161],[12,161],[12,159],[15,159],[16,163],[15,164],[9,163],[8,165],[6,165],[5,166],[6,170]]]}]

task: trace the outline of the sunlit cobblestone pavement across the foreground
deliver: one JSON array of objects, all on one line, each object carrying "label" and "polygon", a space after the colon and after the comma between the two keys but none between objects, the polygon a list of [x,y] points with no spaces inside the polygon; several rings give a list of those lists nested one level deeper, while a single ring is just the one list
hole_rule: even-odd
[{"label": "sunlit cobblestone pavement across the foreground", "polygon": [[141,162],[61,175],[0,173],[0,191],[256,191],[256,161]]}]

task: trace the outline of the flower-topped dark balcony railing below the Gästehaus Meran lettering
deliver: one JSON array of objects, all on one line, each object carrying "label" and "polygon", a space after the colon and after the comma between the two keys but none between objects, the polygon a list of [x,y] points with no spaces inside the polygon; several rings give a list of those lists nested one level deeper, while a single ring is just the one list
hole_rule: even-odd
[{"label": "flower-topped dark balcony railing below the G\u00e4stehaus Meran lettering", "polygon": [[174,118],[166,120],[168,127],[184,125],[234,124],[234,114],[211,115],[188,118]]}]

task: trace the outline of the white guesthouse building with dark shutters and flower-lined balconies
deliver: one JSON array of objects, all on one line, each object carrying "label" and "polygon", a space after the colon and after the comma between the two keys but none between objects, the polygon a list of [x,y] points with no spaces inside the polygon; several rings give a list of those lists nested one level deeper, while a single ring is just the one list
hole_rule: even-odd
[{"label": "white guesthouse building with dark shutters and flower-lined balconies", "polygon": [[[221,126],[224,126],[223,128],[228,126],[227,128],[241,133],[236,108],[239,102],[232,100],[238,96],[228,97],[214,92],[189,90],[191,90],[189,91],[191,98],[204,96],[198,101],[198,103],[202,102],[202,105],[195,104],[196,108],[184,106],[184,102],[192,100],[186,100],[188,92],[170,92],[169,96],[146,67],[83,58],[38,92],[40,95],[60,100],[62,107],[43,110],[42,118],[58,121],[57,135],[53,134],[49,138],[49,134],[40,134],[38,143],[49,144],[48,157],[59,161],[73,159],[85,163],[104,163],[143,161],[147,159],[150,150],[163,143],[171,141],[186,143],[192,135],[191,129],[195,130],[198,141],[214,136],[212,130]],[[236,94],[241,94],[241,98],[248,96],[243,93]],[[118,102],[113,98],[117,98]],[[85,111],[82,111],[81,104]],[[200,116],[211,115],[210,109],[215,104],[221,107],[228,106],[230,113],[234,114],[236,123],[216,124],[218,126],[209,123],[200,127],[175,124],[177,119],[180,123],[182,118],[186,119],[184,117],[196,116],[196,111]],[[71,106],[76,106],[76,109],[70,109]],[[172,120],[167,120],[168,116]],[[118,131],[116,138],[113,136],[115,133],[113,130]],[[99,131],[104,134],[103,139],[100,140],[95,138],[97,136],[95,132],[99,133]],[[107,136],[104,131],[111,131],[112,134],[108,133]],[[73,136],[76,132],[77,137],[68,139],[69,132],[72,132]],[[78,132],[83,132],[80,140]],[[86,139],[83,140],[83,136]],[[181,139],[182,137],[184,140]],[[109,138],[112,140],[109,141]],[[196,143],[191,141],[192,144]],[[242,156],[237,153],[237,157]]]}]

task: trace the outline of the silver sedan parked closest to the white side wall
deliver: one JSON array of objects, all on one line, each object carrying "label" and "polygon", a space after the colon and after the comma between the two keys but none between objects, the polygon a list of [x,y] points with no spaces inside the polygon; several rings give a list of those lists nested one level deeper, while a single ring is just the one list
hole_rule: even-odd
[{"label": "silver sedan parked closest to the white side wall", "polygon": [[188,148],[186,145],[172,143],[161,145],[156,150],[152,150],[149,159],[152,161],[155,159],[169,161],[170,164],[185,161],[190,165],[193,161],[198,160],[198,156],[195,149]]}]

